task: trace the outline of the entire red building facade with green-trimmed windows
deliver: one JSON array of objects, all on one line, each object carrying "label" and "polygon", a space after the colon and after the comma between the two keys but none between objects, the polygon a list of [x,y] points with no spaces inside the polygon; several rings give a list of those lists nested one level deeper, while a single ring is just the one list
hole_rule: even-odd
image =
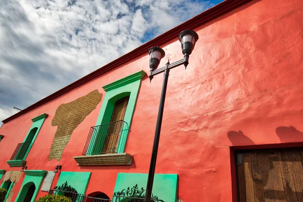
[{"label": "entire red building facade with green-trimmed windows", "polygon": [[66,181],[113,200],[145,188],[163,81],[149,83],[147,49],[165,50],[159,67],[182,59],[185,29],[199,40],[187,69],[170,72],[153,193],[166,202],[303,201],[302,18],[300,0],[225,1],[4,120],[7,201],[31,189],[35,201]]}]

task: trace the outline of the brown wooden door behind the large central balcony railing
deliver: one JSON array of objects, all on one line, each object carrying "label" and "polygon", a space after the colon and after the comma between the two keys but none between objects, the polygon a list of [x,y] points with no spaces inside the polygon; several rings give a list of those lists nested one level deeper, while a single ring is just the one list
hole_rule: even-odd
[{"label": "brown wooden door behind the large central balcony railing", "polygon": [[102,153],[115,153],[123,127],[123,118],[128,104],[129,96],[119,99],[114,107],[111,122],[102,148]]}]

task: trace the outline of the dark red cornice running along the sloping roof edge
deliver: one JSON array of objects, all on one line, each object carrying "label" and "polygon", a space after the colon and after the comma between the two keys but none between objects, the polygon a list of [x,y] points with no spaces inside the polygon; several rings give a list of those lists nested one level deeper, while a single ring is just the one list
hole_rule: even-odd
[{"label": "dark red cornice running along the sloping roof edge", "polygon": [[100,75],[103,75],[113,69],[115,69],[116,67],[119,67],[125,63],[130,62],[131,60],[138,58],[139,56],[143,55],[143,54],[147,54],[147,50],[149,47],[152,46],[160,46],[161,44],[164,44],[166,42],[169,42],[170,40],[177,38],[178,34],[183,31],[184,29],[194,29],[198,26],[201,26],[203,24],[206,24],[207,22],[222,16],[226,13],[228,13],[229,11],[232,11],[244,4],[246,4],[247,2],[250,2],[251,0],[225,0],[224,2],[218,4],[217,6],[212,7],[209,10],[206,10],[203,13],[200,13],[199,15],[191,18],[190,20],[178,25],[177,27],[161,34],[160,36],[142,44],[141,46],[133,49],[133,51],[121,56],[120,58],[108,63],[107,65],[91,72],[90,74],[78,79],[77,81],[65,86],[64,88],[54,92],[51,95],[48,95],[46,97],[44,97],[43,99],[39,100],[38,102],[36,102],[35,104],[27,107],[26,109],[10,116],[9,118],[3,120],[3,123],[7,123],[13,119],[16,119],[17,117],[26,114],[27,112],[44,105],[45,103],[48,103],[49,101],[71,91],[74,88],[77,88],[79,86],[81,86],[82,84],[95,79],[97,77],[99,77]]}]

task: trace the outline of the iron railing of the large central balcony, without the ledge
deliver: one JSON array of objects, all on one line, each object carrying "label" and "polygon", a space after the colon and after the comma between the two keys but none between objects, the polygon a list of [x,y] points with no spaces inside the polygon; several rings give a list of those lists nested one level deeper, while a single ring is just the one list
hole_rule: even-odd
[{"label": "iron railing of the large central balcony, without the ledge", "polygon": [[123,120],[90,127],[82,155],[117,153],[121,133],[127,123]]}]

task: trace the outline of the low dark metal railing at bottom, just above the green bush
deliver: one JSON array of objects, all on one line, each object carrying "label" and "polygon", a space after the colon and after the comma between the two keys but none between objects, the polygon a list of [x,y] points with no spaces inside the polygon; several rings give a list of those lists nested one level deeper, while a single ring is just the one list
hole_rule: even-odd
[{"label": "low dark metal railing at bottom, just above the green bush", "polygon": [[48,195],[53,195],[53,194],[64,195],[68,198],[71,198],[73,202],[112,202],[111,199],[91,197],[85,194],[80,194],[72,191],[49,190]]}]

